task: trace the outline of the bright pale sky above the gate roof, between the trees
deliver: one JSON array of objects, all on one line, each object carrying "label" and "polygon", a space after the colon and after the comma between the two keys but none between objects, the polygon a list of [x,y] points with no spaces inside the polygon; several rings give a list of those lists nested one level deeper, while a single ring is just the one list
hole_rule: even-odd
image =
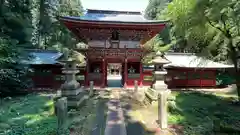
[{"label": "bright pale sky above the gate roof, between the trees", "polygon": [[148,0],[81,0],[85,9],[144,11]]}]

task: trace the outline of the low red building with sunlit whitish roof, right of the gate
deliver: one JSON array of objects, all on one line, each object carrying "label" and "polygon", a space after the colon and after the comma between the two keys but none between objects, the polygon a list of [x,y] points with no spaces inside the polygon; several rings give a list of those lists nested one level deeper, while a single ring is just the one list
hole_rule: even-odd
[{"label": "low red building with sunlit whitish roof, right of the gate", "polygon": [[165,57],[171,62],[165,65],[169,88],[213,88],[219,71],[234,68],[191,53],[166,53]]}]

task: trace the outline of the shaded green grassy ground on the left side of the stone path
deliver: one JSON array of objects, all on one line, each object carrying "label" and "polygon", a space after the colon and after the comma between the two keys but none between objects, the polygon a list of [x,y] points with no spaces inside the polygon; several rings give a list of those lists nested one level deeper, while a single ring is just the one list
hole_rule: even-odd
[{"label": "shaded green grassy ground on the left side of the stone path", "polygon": [[[4,99],[0,106],[0,135],[56,135],[57,118],[54,114],[55,94],[29,94],[23,97]],[[70,110],[70,135],[88,135],[96,124],[99,101],[103,106],[102,123],[105,123],[108,98],[97,94],[89,98],[79,110]],[[104,128],[104,125],[102,126]],[[101,129],[104,130],[104,129]]]}]

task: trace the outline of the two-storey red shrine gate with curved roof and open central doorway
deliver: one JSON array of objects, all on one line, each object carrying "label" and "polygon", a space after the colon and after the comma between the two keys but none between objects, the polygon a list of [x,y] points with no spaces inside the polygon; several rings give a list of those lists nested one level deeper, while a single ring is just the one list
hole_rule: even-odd
[{"label": "two-storey red shrine gate with curved roof and open central doorway", "polygon": [[109,63],[122,66],[122,85],[131,87],[134,80],[139,85],[144,82],[141,59],[146,52],[143,45],[159,33],[165,21],[144,18],[141,12],[87,10],[80,17],[61,17],[60,21],[72,31],[87,49],[78,49],[86,56],[85,86],[94,81],[95,86],[107,86],[107,67]]}]

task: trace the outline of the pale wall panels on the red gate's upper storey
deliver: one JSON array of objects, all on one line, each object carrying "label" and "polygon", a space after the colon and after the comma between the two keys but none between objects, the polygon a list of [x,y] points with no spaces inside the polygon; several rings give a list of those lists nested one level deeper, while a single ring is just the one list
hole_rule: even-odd
[{"label": "pale wall panels on the red gate's upper storey", "polygon": [[[106,48],[110,47],[109,41],[102,41],[102,40],[92,40],[88,42],[90,47],[101,47],[104,48],[106,44]],[[140,41],[120,41],[119,48],[138,48],[140,45]]]}]

